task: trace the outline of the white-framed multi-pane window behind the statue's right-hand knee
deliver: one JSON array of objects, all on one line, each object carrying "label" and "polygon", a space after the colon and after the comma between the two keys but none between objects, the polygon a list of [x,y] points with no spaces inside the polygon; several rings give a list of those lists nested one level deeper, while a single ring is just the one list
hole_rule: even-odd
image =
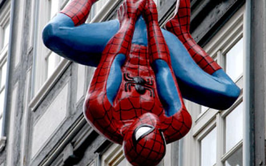
[{"label": "white-framed multi-pane window behind the statue's right-hand knee", "polygon": [[[243,89],[244,11],[245,6],[228,20],[204,48],[240,89]],[[236,102],[227,110],[199,107],[192,102],[187,105],[188,108],[192,108],[194,126],[191,131],[194,138],[192,136],[185,138],[183,146],[189,147],[187,155],[194,154],[195,160],[188,161],[191,157],[185,155],[184,163],[195,166],[242,166],[242,101],[241,93]],[[191,143],[195,143],[196,146],[190,146]]]}]

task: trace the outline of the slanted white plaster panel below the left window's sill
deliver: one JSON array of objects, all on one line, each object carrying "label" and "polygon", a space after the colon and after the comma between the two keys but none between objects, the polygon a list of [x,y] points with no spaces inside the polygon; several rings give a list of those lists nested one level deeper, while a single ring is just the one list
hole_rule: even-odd
[{"label": "slanted white plaster panel below the left window's sill", "polygon": [[67,115],[68,83],[56,96],[42,117],[33,127],[32,153],[37,154],[49,137],[56,131]]}]

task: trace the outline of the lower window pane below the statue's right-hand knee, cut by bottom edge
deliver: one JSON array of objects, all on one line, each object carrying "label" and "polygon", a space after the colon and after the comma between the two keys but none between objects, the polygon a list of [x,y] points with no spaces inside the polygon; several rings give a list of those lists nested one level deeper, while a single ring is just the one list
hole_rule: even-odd
[{"label": "lower window pane below the statue's right-hand knee, cut by bottom edge", "polygon": [[216,163],[216,127],[201,140],[201,166]]}]

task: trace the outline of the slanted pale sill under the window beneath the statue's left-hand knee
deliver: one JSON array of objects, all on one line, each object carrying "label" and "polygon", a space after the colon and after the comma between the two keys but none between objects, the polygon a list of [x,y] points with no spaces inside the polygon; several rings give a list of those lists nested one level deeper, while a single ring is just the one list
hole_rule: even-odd
[{"label": "slanted pale sill under the window beneath the statue's left-hand knee", "polygon": [[39,106],[41,101],[45,98],[45,96],[48,94],[48,92],[51,90],[53,85],[57,82],[59,77],[63,74],[63,72],[68,68],[71,61],[67,59],[63,59],[59,65],[56,67],[53,74],[44,82],[43,86],[40,88],[40,90],[37,92],[37,94],[34,95],[32,100],[30,101],[30,109],[32,111],[35,111],[36,108]]}]

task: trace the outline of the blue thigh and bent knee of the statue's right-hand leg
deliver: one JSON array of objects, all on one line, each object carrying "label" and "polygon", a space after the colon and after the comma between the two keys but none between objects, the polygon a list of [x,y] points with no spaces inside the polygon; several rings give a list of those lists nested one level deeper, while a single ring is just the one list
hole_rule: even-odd
[{"label": "blue thigh and bent knee of the statue's right-hand leg", "polygon": [[182,96],[211,108],[229,108],[240,94],[239,87],[222,69],[212,75],[204,72],[177,37],[165,30],[163,35],[170,50],[172,67]]}]

